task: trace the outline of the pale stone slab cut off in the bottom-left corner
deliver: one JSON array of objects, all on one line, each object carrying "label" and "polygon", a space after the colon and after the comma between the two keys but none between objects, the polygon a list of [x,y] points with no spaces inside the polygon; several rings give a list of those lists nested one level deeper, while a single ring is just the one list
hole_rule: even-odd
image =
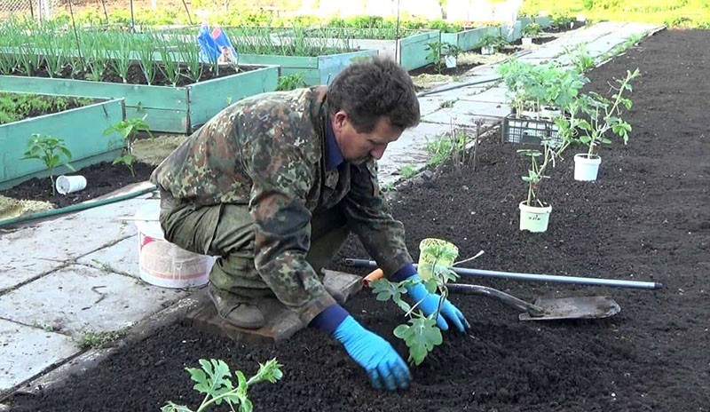
[{"label": "pale stone slab cut off in the bottom-left corner", "polygon": [[80,351],[71,337],[0,319],[0,392]]}]

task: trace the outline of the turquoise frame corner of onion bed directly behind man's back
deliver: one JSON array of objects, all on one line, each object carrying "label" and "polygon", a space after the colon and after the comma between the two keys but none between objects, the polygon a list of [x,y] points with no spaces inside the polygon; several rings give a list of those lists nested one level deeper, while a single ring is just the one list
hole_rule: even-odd
[{"label": "turquoise frame corner of onion bed directly behind man's back", "polygon": [[[99,83],[85,80],[51,79],[26,76],[0,75],[0,90],[51,95],[83,96],[91,98],[123,98],[129,118],[132,114],[142,117],[152,131],[189,133],[194,125],[204,123],[230,99],[241,99],[252,94],[276,90],[278,67],[260,67],[236,75],[212,79],[207,87],[212,87],[210,102],[201,99],[193,112],[190,108],[190,93],[201,83],[185,87],[148,86],[142,84]],[[251,94],[249,94],[251,93]],[[199,95],[199,92],[198,92]],[[215,103],[218,102],[219,104]]]}]

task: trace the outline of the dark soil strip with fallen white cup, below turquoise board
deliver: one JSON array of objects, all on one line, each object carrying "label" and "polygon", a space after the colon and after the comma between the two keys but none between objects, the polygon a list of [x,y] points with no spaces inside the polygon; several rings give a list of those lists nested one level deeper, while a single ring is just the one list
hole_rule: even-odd
[{"label": "dark soil strip with fallen white cup, below turquoise board", "polygon": [[146,181],[154,169],[153,165],[136,162],[133,163],[133,172],[135,173],[133,176],[130,174],[130,170],[122,164],[112,165],[108,162],[101,162],[67,173],[68,175],[82,175],[86,178],[86,188],[78,192],[51,194],[50,178],[31,178],[18,186],[0,191],[0,194],[15,199],[50,202],[55,207],[63,208],[109,194],[131,183]]}]

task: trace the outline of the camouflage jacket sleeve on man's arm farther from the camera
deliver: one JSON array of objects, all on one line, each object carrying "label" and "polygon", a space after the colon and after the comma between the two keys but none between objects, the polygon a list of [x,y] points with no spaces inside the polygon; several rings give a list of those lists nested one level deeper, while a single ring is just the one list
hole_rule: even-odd
[{"label": "camouflage jacket sleeve on man's arm farther from the camera", "polygon": [[367,253],[389,277],[412,263],[406,250],[405,229],[392,218],[377,183],[377,163],[371,159],[351,165],[351,191],[343,199],[343,211],[351,231],[358,235]]}]

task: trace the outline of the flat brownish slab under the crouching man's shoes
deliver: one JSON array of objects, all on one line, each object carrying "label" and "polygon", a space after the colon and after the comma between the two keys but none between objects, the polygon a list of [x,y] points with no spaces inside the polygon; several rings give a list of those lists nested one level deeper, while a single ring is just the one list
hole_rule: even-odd
[{"label": "flat brownish slab under the crouching man's shoes", "polygon": [[[362,289],[362,277],[342,272],[326,271],[324,285],[328,292],[344,303],[349,297]],[[237,328],[223,321],[217,314],[207,291],[200,293],[199,305],[185,315],[183,325],[221,337],[229,337],[235,342],[251,345],[268,345],[282,342],[292,337],[298,330],[304,329],[295,313],[282,305],[277,299],[261,299],[256,302],[264,313],[266,325],[261,329]]]}]

